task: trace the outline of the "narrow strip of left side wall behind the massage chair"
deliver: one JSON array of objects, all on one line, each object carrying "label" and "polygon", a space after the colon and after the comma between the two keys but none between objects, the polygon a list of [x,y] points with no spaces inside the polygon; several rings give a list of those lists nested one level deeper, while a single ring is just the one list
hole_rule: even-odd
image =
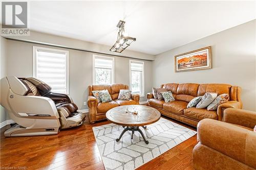
[{"label": "narrow strip of left side wall behind the massage chair", "polygon": [[[7,64],[7,51],[6,51],[6,43],[7,40],[3,37],[1,37],[0,40],[0,51],[1,51],[1,58],[0,58],[0,79],[6,76],[6,64]],[[1,95],[1,94],[0,94]],[[6,113],[5,109],[0,105],[0,123],[4,122],[6,120]]]}]

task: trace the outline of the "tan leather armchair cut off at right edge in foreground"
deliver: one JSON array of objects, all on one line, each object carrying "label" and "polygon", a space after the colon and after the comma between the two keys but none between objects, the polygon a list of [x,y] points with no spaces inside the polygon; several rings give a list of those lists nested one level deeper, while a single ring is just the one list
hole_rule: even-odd
[{"label": "tan leather armchair cut off at right edge in foreground", "polygon": [[195,169],[256,169],[256,112],[228,108],[224,122],[204,119],[193,150]]}]

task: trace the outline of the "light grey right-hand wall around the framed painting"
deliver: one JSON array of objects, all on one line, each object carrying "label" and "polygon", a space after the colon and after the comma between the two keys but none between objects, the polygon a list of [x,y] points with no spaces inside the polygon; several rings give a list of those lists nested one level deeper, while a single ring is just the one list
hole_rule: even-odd
[{"label": "light grey right-hand wall around the framed painting", "polygon": [[[188,28],[189,29],[189,28]],[[153,86],[163,83],[227,83],[242,87],[243,108],[256,111],[256,20],[156,56]],[[212,69],[175,72],[174,56],[212,46]]]}]

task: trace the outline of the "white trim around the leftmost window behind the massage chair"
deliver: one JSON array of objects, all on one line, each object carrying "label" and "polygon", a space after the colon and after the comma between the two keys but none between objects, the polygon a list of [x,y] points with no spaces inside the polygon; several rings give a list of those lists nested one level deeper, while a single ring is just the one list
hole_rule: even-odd
[{"label": "white trim around the leftmost window behind the massage chair", "polygon": [[48,48],[48,47],[42,47],[42,46],[33,46],[33,77],[37,78],[37,68],[36,68],[36,51],[48,51],[48,52],[55,52],[55,53],[61,53],[66,54],[66,93],[69,94],[69,51],[66,50],[59,50],[55,48]]}]

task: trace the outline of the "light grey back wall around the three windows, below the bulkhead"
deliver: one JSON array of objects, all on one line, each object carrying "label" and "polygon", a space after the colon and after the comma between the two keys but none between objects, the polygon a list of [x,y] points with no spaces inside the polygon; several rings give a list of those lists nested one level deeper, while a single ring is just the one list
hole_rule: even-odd
[{"label": "light grey back wall around the three windows, below the bulkhead", "polygon": [[[52,47],[49,45],[38,45],[16,40],[7,40],[7,74],[16,77],[32,77],[32,47],[44,46],[69,51],[69,92],[79,109],[86,109],[83,102],[87,102],[87,87],[92,85],[92,56],[94,53],[66,48]],[[115,83],[129,85],[129,58],[115,58]],[[134,60],[134,59],[133,59]],[[145,62],[145,94],[152,89],[152,61]],[[146,96],[140,101],[146,101]]]}]

